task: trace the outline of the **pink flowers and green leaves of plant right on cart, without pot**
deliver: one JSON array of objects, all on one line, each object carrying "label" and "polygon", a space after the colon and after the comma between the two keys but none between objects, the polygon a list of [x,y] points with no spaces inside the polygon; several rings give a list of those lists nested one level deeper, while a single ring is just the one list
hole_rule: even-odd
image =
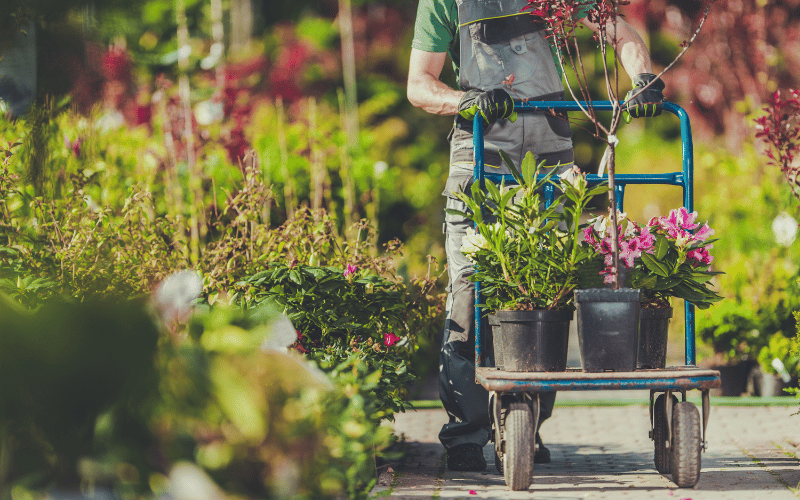
[{"label": "pink flowers and green leaves of plant right on cart, without pot", "polygon": [[[697,212],[684,207],[644,225],[617,212],[620,271],[627,286],[642,289],[645,307],[668,307],[669,298],[677,297],[705,309],[722,299],[710,288],[721,274],[711,270],[714,230],[696,220]],[[583,244],[603,257],[599,274],[606,284],[614,276],[610,225],[610,217],[599,216],[583,232]]]}]

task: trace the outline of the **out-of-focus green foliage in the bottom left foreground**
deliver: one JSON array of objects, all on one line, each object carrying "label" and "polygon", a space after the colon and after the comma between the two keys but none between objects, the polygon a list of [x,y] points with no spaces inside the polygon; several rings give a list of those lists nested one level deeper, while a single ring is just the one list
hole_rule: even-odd
[{"label": "out-of-focus green foliage in the bottom left foreground", "polygon": [[217,305],[170,333],[143,302],[0,307],[0,489],[15,498],[180,496],[202,477],[241,497],[366,498],[393,440],[381,372],[349,356],[326,376],[260,348],[274,309]]}]

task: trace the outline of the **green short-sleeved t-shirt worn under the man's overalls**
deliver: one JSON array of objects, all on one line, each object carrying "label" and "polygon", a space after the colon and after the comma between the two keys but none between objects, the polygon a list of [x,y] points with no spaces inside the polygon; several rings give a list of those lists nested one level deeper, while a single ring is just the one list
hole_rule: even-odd
[{"label": "green short-sleeved t-shirt worn under the man's overalls", "polygon": [[[583,7],[576,15],[576,20],[586,17],[589,7]],[[414,39],[411,46],[424,52],[447,52],[453,61],[453,69],[458,77],[459,44],[458,44],[458,6],[456,0],[420,0],[417,8],[417,19],[414,23]],[[559,74],[561,65],[555,47],[550,46],[553,61]]]}]

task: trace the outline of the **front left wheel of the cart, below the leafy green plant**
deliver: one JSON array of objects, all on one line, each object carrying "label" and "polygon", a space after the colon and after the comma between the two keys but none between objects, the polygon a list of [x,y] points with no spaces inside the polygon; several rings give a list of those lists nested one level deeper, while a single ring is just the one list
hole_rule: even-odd
[{"label": "front left wheel of the cart, below the leafy green plant", "polygon": [[533,415],[525,403],[511,403],[505,421],[506,452],[503,469],[506,484],[513,491],[525,491],[533,475]]}]

